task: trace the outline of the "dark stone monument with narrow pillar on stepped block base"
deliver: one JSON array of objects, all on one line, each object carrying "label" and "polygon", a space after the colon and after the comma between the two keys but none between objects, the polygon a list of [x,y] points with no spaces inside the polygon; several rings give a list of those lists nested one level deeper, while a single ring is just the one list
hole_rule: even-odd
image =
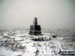
[{"label": "dark stone monument with narrow pillar on stepped block base", "polygon": [[41,35],[41,26],[38,25],[37,17],[34,18],[33,25],[30,25],[29,34],[35,36]]}]

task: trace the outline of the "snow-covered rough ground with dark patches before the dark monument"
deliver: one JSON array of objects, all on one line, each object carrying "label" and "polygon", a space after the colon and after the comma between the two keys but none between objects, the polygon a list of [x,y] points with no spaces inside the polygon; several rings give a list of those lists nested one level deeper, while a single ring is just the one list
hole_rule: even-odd
[{"label": "snow-covered rough ground with dark patches before the dark monument", "polygon": [[[34,41],[34,38],[50,40]],[[61,56],[60,50],[75,51],[75,42],[65,41],[63,37],[52,38],[47,33],[43,36],[19,32],[0,35],[0,56]]]}]

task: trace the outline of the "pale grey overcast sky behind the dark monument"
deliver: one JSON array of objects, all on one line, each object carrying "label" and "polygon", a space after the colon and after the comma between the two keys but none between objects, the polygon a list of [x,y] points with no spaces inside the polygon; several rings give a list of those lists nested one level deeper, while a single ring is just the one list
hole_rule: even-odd
[{"label": "pale grey overcast sky behind the dark monument", "polygon": [[42,28],[74,29],[75,0],[0,0],[0,27],[29,28],[34,17]]}]

